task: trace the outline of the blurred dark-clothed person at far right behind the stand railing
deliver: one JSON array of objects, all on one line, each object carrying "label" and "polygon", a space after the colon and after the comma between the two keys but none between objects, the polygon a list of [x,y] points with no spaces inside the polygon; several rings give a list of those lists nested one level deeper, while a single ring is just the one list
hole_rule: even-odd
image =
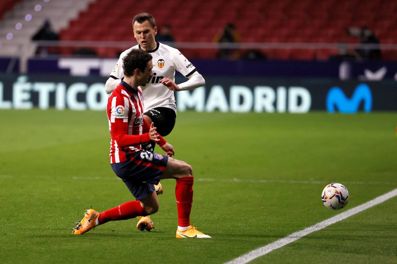
[{"label": "blurred dark-clothed person at far right behind the stand railing", "polygon": [[371,47],[357,47],[355,52],[358,58],[363,60],[382,58],[379,40],[367,27],[364,26],[361,29],[358,29],[357,27],[351,27],[347,30],[347,34],[353,37],[360,37],[360,44],[372,44]]}]

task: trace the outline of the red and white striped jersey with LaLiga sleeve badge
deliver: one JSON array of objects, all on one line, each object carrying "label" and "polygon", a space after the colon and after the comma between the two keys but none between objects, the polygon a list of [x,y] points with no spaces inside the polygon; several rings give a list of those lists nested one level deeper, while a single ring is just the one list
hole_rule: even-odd
[{"label": "red and white striped jersey with LaLiga sleeve badge", "polygon": [[[130,160],[130,154],[141,150],[141,143],[150,141],[143,135],[143,95],[141,87],[131,88],[121,80],[108,99],[110,163]],[[135,136],[131,136],[135,135]]]}]

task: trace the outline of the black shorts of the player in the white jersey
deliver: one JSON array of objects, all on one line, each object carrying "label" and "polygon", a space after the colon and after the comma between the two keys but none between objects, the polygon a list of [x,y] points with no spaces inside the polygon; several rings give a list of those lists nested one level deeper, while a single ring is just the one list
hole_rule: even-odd
[{"label": "black shorts of the player in the white jersey", "polygon": [[170,134],[175,125],[175,111],[168,107],[155,107],[144,113],[144,115],[152,119],[154,126],[157,127],[157,133],[162,137]]}]

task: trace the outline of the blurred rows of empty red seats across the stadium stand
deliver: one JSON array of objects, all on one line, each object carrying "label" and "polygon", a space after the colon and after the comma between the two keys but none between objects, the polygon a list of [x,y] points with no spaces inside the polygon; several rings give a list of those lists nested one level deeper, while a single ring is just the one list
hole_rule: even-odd
[{"label": "blurred rows of empty red seats across the stadium stand", "polygon": [[[13,0],[4,0],[0,16]],[[345,41],[358,43],[349,37],[348,27],[367,25],[381,43],[397,43],[393,32],[397,24],[397,2],[389,0],[163,0],[162,6],[174,10],[174,15],[164,15],[157,0],[145,0],[139,5],[131,0],[119,0],[112,8],[112,0],[91,2],[79,17],[62,30],[61,40],[130,41],[135,43],[131,21],[135,13],[152,13],[161,31],[165,23],[173,26],[173,36],[181,42],[212,42],[227,23],[233,23],[243,42],[322,42]],[[376,10],[376,12],[374,12]],[[131,13],[132,12],[132,13]],[[98,17],[100,23],[98,24]],[[67,50],[61,50],[65,53]],[[327,59],[336,50],[265,50],[269,58]],[[216,50],[187,50],[188,57],[212,58]],[[98,48],[99,56],[112,57],[115,48]],[[191,56],[189,55],[191,54]],[[393,53],[385,51],[387,58]]]}]

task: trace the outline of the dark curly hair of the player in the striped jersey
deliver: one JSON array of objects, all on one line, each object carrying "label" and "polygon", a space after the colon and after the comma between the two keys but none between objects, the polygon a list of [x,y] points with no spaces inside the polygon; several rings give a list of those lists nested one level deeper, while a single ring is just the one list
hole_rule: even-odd
[{"label": "dark curly hair of the player in the striped jersey", "polygon": [[145,50],[133,49],[123,58],[124,75],[129,77],[134,75],[135,69],[145,71],[145,68],[152,55],[147,53]]}]

